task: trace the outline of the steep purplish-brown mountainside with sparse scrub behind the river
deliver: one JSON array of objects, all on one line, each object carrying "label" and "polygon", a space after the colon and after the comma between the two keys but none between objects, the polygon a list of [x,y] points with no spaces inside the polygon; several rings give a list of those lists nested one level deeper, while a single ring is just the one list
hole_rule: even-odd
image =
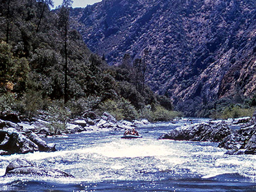
[{"label": "steep purplish-brown mountainside with sparse scrub behind the river", "polygon": [[72,11],[88,47],[109,64],[149,53],[146,79],[186,115],[256,91],[254,0],[103,0]]}]

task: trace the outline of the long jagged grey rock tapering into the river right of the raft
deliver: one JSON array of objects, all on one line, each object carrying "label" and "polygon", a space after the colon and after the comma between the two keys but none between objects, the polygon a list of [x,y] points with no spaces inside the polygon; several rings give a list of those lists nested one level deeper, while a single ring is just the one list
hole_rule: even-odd
[{"label": "long jagged grey rock tapering into the river right of the raft", "polygon": [[159,139],[220,142],[230,134],[231,130],[227,124],[204,122],[175,128],[169,133],[163,134]]}]

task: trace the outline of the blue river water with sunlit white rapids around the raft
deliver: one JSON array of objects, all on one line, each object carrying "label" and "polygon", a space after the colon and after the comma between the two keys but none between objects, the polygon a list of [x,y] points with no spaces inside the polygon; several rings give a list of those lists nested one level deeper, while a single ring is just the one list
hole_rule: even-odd
[{"label": "blue river water with sunlit white rapids around the raft", "polygon": [[58,151],[2,156],[0,175],[24,157],[75,178],[11,176],[0,178],[0,191],[256,191],[256,155],[225,155],[218,143],[157,140],[185,123],[139,127],[141,139],[121,139],[122,131],[48,138]]}]

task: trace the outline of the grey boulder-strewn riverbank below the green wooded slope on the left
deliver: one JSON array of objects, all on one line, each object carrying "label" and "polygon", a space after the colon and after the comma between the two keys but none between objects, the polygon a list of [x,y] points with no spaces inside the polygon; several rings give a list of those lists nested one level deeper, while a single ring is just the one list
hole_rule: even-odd
[{"label": "grey boulder-strewn riverbank below the green wooded slope on the left", "polygon": [[56,151],[55,145],[49,145],[43,137],[58,137],[65,134],[81,133],[82,131],[112,131],[127,130],[148,121],[117,121],[109,113],[103,113],[100,118],[72,119],[66,128],[53,130],[52,122],[45,116],[28,121],[14,113],[0,117],[0,155],[26,154],[35,151]]}]

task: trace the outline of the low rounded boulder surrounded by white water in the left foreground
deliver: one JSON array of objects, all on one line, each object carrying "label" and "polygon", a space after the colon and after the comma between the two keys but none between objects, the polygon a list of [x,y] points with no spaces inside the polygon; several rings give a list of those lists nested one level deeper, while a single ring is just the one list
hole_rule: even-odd
[{"label": "low rounded boulder surrounded by white water in the left foreground", "polygon": [[50,176],[54,178],[73,177],[70,173],[63,172],[62,170],[59,169],[37,167],[24,158],[13,160],[10,164],[8,164],[4,176],[13,175],[38,175]]}]

